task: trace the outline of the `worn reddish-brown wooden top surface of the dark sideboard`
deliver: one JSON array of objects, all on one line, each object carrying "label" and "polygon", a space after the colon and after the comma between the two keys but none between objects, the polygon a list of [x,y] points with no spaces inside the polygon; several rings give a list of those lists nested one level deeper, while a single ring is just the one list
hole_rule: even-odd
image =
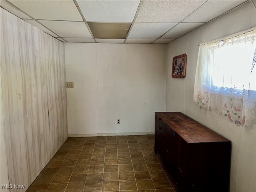
[{"label": "worn reddish-brown wooden top surface of the dark sideboard", "polygon": [[155,114],[188,143],[230,142],[181,112],[155,112]]}]

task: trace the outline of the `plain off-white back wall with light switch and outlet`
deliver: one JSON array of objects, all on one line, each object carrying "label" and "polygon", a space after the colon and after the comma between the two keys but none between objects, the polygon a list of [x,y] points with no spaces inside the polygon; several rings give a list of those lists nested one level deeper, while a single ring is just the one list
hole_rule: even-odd
[{"label": "plain off-white back wall with light switch and outlet", "polygon": [[65,55],[69,136],[154,133],[154,112],[165,111],[166,45],[65,43]]}]

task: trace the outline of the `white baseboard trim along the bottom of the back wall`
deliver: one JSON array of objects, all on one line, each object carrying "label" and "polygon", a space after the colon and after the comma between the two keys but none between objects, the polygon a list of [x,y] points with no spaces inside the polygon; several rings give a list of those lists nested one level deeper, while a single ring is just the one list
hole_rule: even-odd
[{"label": "white baseboard trim along the bottom of the back wall", "polygon": [[90,133],[68,134],[68,137],[98,137],[98,136],[126,136],[126,135],[154,135],[155,132],[126,132],[126,133]]}]

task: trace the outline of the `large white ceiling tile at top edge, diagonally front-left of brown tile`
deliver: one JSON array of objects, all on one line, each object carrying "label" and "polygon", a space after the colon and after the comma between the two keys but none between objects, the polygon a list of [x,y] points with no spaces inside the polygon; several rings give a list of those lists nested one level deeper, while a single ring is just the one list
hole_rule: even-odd
[{"label": "large white ceiling tile at top edge, diagonally front-left of brown tile", "polygon": [[10,2],[35,19],[83,20],[72,0],[10,0]]}]

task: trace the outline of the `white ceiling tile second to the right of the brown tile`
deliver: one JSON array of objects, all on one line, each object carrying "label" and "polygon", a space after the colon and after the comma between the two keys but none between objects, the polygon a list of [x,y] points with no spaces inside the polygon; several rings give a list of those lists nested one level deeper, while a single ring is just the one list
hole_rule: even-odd
[{"label": "white ceiling tile second to the right of the brown tile", "polygon": [[204,23],[180,23],[177,26],[175,26],[172,30],[167,32],[164,36],[162,36],[160,39],[176,39],[193,29],[199,27]]}]

